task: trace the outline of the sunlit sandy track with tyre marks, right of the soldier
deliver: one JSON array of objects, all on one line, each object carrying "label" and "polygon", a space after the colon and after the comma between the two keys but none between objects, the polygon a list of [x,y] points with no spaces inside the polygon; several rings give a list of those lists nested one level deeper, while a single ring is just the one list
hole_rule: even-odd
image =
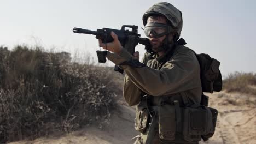
[{"label": "sunlit sandy track with tyre marks, right of the soldier", "polygon": [[214,144],[256,143],[255,96],[225,92],[210,95],[210,106],[219,111],[216,133],[207,142]]}]

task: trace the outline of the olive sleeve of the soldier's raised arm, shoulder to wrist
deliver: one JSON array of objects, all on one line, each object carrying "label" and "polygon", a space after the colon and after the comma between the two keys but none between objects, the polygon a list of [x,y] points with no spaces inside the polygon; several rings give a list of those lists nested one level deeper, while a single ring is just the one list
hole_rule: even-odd
[{"label": "olive sleeve of the soldier's raised arm, shoulder to wrist", "polygon": [[[123,50],[119,56],[129,61],[131,57],[127,53]],[[110,60],[115,62],[115,59]],[[149,67],[135,68],[129,65],[121,67],[130,81],[149,95],[170,95],[201,87],[200,66],[192,51],[178,51],[160,70]]]}]

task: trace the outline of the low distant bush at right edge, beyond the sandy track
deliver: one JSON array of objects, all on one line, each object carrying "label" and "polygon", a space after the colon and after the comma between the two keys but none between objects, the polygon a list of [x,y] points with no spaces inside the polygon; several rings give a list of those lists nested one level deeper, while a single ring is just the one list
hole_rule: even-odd
[{"label": "low distant bush at right edge, beyond the sandy track", "polygon": [[256,74],[235,72],[223,80],[227,92],[241,92],[256,95]]}]

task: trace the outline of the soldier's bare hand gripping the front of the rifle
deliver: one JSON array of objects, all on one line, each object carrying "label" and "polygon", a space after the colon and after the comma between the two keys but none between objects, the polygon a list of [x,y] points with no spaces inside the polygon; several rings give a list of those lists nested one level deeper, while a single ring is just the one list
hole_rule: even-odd
[{"label": "soldier's bare hand gripping the front of the rifle", "polygon": [[123,49],[123,46],[121,45],[120,41],[118,40],[118,35],[114,32],[111,32],[111,36],[114,39],[110,43],[102,43],[101,39],[98,39],[98,43],[100,47],[102,47],[105,50],[109,50],[111,52],[119,54],[120,51]]}]

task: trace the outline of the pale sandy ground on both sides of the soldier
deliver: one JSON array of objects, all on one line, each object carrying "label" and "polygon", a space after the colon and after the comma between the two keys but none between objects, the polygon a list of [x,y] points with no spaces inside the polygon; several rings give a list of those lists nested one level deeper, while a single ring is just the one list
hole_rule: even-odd
[{"label": "pale sandy ground on both sides of the soldier", "polygon": [[[256,143],[256,96],[227,94],[225,92],[206,94],[210,96],[210,106],[219,111],[216,133],[206,142],[213,144]],[[113,112],[110,124],[100,129],[86,127],[79,131],[59,137],[42,137],[34,141],[18,141],[13,144],[28,143],[133,143],[132,137],[138,135],[133,129],[134,107],[119,101],[117,111]]]}]

